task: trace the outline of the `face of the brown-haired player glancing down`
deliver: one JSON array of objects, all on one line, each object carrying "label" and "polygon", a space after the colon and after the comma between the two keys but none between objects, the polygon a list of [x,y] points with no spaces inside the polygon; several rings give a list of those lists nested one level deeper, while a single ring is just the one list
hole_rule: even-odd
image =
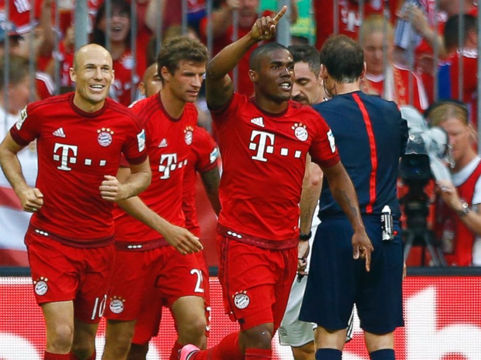
[{"label": "face of the brown-haired player glancing down", "polygon": [[206,64],[180,60],[174,74],[169,73],[166,67],[162,67],[160,72],[164,80],[164,87],[168,87],[177,99],[185,103],[193,103],[199,95],[206,73]]}]

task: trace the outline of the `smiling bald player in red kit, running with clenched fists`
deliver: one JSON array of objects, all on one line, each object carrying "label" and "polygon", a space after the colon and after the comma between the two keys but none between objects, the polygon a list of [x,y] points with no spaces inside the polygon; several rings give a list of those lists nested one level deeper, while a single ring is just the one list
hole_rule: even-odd
[{"label": "smiling bald player in red kit, running with clenched fists", "polygon": [[[109,52],[82,46],[70,76],[75,93],[28,105],[0,145],[5,176],[23,210],[34,213],[25,243],[47,326],[45,360],[95,359],[113,267],[112,202],[150,182],[144,130],[127,108],[106,99]],[[39,170],[31,188],[16,154],[35,139]],[[121,153],[131,171],[123,183],[113,176]]]}]

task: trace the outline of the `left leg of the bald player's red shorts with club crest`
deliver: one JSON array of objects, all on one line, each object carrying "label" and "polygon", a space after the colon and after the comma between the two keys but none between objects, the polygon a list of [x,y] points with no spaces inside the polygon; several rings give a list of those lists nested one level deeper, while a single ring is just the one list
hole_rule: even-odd
[{"label": "left leg of the bald player's red shorts with club crest", "polygon": [[25,243],[37,303],[75,299],[81,270],[77,261],[79,249],[45,240],[31,229],[25,236]]}]

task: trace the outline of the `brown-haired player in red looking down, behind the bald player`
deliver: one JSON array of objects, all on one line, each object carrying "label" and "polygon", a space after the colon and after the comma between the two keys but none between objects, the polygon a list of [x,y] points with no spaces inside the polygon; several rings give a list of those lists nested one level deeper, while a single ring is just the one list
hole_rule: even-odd
[{"label": "brown-haired player in red looking down, behind the bald player", "polygon": [[[157,59],[162,79],[159,93],[135,103],[143,119],[147,152],[154,172],[147,190],[114,210],[116,267],[108,301],[104,359],[145,357],[148,342],[159,330],[161,309],[169,307],[182,345],[206,346],[203,274],[198,238],[184,228],[182,179],[197,122],[193,105],[207,62],[198,40],[176,37]],[[124,178],[128,169],[119,170]],[[171,245],[171,246],[169,246]],[[133,334],[133,338],[132,338]]]}]

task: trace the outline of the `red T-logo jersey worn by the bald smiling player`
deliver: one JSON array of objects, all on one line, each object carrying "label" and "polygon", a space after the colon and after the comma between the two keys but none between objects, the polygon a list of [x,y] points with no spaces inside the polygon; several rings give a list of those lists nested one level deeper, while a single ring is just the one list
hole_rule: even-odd
[{"label": "red T-logo jersey worn by the bald smiling player", "polygon": [[100,197],[104,175],[115,176],[123,153],[131,164],[146,159],[145,132],[127,108],[107,99],[95,113],[73,103],[74,93],[27,105],[10,134],[19,145],[37,139],[36,187],[44,205],[31,225],[72,246],[112,240],[112,203]]}]

